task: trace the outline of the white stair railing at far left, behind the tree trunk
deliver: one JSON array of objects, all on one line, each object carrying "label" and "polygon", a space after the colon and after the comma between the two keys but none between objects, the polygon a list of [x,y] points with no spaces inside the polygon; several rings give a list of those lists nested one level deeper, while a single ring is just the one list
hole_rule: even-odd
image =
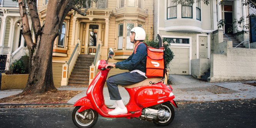
[{"label": "white stair railing at far left, behind the tree trunk", "polygon": [[7,54],[5,70],[9,71],[10,65],[12,65],[12,63],[15,62],[15,60],[20,60],[20,58],[22,56],[24,56],[25,54],[28,54],[28,48],[22,47],[22,46],[20,46],[12,54],[11,54],[11,52],[9,52],[9,54]]}]

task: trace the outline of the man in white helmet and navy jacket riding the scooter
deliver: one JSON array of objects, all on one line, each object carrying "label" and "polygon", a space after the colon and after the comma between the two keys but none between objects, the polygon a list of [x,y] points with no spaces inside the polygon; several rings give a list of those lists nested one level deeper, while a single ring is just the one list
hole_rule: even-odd
[{"label": "man in white helmet and navy jacket riding the scooter", "polygon": [[[130,41],[134,43],[136,48],[136,53],[131,54],[129,58],[122,62],[117,62],[115,64],[107,64],[105,67],[113,66],[122,70],[129,70],[130,72],[120,73],[110,76],[106,80],[106,85],[108,86],[108,91],[110,94],[110,100],[116,100],[115,104],[110,108],[115,108],[115,110],[108,112],[109,115],[120,115],[127,113],[127,108],[125,107],[118,90],[118,85],[127,86],[135,83],[139,83],[145,80],[147,77],[146,72],[146,56],[147,47],[145,43],[140,43],[146,38],[146,32],[143,28],[134,27],[131,29]],[[140,44],[139,44],[140,43]],[[138,45],[139,44],[139,45]],[[137,46],[138,45],[138,46]]]}]

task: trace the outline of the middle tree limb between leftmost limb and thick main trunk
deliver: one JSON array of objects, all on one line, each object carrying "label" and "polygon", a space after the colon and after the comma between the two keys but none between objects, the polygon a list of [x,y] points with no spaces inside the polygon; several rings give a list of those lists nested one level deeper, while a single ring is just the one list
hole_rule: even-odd
[{"label": "middle tree limb between leftmost limb and thick main trunk", "polygon": [[32,20],[33,30],[35,33],[35,42],[37,42],[38,31],[41,28],[40,20],[37,13],[37,1],[36,0],[27,0],[28,11]]}]

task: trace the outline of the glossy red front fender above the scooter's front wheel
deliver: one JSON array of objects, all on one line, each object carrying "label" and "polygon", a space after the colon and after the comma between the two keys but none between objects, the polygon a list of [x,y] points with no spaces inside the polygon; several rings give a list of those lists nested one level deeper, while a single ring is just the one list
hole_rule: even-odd
[{"label": "glossy red front fender above the scooter's front wheel", "polygon": [[81,106],[78,112],[81,112],[83,110],[90,109],[90,108],[94,110],[93,106],[91,105],[91,101],[87,98],[87,96],[76,101],[74,106]]}]

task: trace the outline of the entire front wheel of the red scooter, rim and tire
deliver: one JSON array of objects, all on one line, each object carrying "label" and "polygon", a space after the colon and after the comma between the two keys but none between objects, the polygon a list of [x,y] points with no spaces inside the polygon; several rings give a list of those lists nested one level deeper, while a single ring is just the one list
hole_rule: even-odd
[{"label": "entire front wheel of the red scooter, rim and tire", "polygon": [[[82,112],[78,112],[81,106],[76,106],[72,113],[73,123],[78,128],[91,128],[98,121],[98,113],[93,109],[84,110]],[[86,113],[86,115],[85,115]],[[83,118],[85,116],[85,118]]]}]

